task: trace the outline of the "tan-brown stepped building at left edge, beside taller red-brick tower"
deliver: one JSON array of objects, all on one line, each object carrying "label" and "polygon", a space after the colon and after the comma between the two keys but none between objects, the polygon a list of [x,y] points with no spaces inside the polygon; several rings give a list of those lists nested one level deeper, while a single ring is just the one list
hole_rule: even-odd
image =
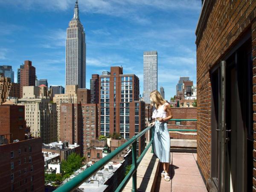
[{"label": "tan-brown stepped building at left edge, beside taller red-brick tower", "polygon": [[13,83],[11,78],[0,73],[0,104],[6,102],[8,97],[20,97],[20,84]]}]

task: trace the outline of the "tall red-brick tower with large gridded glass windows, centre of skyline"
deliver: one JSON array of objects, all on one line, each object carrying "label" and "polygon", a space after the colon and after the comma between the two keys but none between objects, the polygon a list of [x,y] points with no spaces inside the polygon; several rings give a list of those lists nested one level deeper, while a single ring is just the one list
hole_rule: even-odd
[{"label": "tall red-brick tower with large gridded glass windows, centre of skyline", "polygon": [[[122,67],[111,67],[99,76],[99,135],[114,132],[129,139],[145,128],[145,102],[139,101],[139,78],[123,74]],[[140,137],[138,154],[145,148]]]}]

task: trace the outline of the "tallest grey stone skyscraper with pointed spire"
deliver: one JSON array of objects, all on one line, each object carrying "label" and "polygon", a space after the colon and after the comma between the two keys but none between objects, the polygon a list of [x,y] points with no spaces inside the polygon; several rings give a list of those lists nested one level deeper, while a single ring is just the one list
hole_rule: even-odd
[{"label": "tallest grey stone skyscraper with pointed spire", "polygon": [[66,40],[66,85],[77,85],[85,88],[85,32],[79,20],[79,9],[76,0],[73,19],[67,28]]}]

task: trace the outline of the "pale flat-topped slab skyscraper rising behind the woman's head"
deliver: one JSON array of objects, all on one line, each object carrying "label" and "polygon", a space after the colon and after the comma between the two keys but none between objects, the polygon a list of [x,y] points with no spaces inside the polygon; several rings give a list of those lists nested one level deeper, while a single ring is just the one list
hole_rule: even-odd
[{"label": "pale flat-topped slab skyscraper rising behind the woman's head", "polygon": [[157,90],[157,51],[143,53],[143,100],[150,103],[150,93]]}]

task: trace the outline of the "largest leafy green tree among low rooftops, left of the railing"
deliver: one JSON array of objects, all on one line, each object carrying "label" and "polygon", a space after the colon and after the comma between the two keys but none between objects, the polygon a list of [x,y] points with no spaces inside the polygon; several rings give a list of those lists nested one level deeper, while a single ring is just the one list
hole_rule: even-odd
[{"label": "largest leafy green tree among low rooftops, left of the railing", "polygon": [[61,162],[61,169],[64,172],[64,177],[67,178],[73,174],[74,171],[82,166],[84,157],[76,153],[72,153],[67,157],[67,160]]}]

